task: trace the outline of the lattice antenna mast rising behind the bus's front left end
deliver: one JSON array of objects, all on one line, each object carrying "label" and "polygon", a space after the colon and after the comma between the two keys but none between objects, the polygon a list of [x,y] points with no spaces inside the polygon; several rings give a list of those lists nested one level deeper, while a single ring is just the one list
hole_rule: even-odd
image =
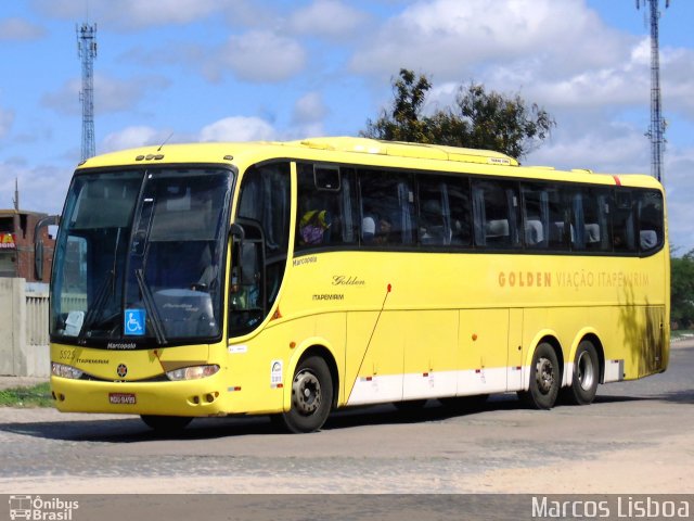
[{"label": "lattice antenna mast rising behind the bus's front left end", "polygon": [[97,24],[77,26],[77,55],[82,64],[82,148],[81,160],[97,155],[94,143],[94,59],[97,58]]}]

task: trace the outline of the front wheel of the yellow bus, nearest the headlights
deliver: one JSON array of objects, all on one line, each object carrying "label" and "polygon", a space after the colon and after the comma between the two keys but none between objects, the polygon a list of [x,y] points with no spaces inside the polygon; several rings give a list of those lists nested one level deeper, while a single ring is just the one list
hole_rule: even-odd
[{"label": "front wheel of the yellow bus, nearest the headlights", "polygon": [[292,380],[292,407],[282,415],[294,433],[318,431],[332,409],[333,379],[320,356],[309,356],[296,368]]}]

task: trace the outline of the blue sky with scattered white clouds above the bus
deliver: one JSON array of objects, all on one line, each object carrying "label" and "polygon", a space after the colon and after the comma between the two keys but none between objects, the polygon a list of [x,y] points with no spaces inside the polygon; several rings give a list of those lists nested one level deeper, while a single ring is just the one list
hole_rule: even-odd
[{"label": "blue sky with scattered white clouds above the bus", "polygon": [[[642,0],[643,3],[643,0]],[[694,2],[660,1],[670,239],[694,249]],[[650,173],[650,40],[634,0],[20,0],[0,8],[0,207],[60,212],[79,161],[76,25],[97,23],[97,152],[357,135],[400,67],[427,110],[471,80],[557,128],[524,164]]]}]

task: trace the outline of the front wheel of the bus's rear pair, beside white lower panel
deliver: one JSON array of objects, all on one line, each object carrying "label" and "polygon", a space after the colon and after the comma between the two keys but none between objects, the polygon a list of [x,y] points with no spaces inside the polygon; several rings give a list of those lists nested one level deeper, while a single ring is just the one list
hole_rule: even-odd
[{"label": "front wheel of the bus's rear pair, beside white lower panel", "polygon": [[542,342],[535,350],[530,364],[530,386],[518,396],[535,409],[551,409],[562,384],[558,359],[554,347]]}]

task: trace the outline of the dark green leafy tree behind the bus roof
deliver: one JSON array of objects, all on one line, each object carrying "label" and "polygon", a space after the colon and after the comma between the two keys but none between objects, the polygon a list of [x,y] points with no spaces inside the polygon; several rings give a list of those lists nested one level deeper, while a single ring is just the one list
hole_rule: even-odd
[{"label": "dark green leafy tree behind the bus roof", "polygon": [[550,114],[519,97],[487,92],[483,85],[459,87],[455,104],[423,114],[432,82],[401,68],[393,81],[394,101],[375,120],[367,122],[364,137],[388,141],[490,149],[523,157],[549,137],[556,126]]}]

